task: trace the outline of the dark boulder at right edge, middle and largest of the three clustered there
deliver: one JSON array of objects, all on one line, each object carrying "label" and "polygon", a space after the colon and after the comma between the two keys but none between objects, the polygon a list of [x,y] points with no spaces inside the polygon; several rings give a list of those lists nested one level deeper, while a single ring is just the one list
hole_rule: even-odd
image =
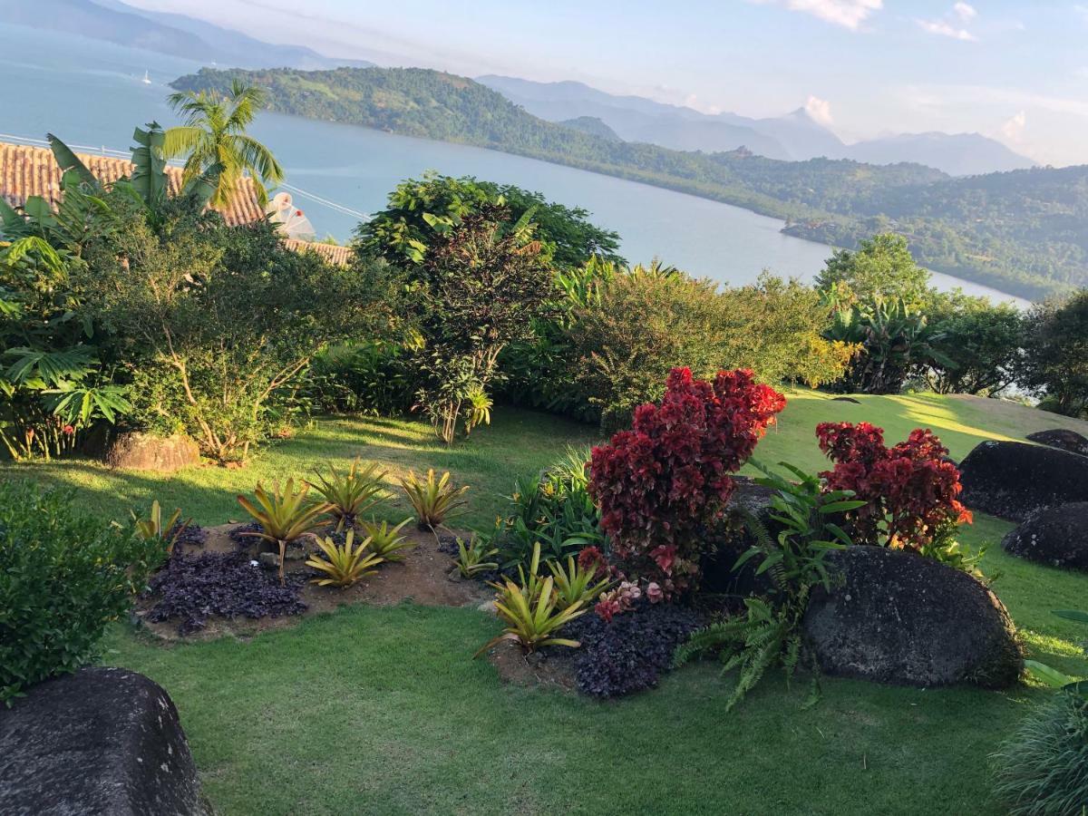
[{"label": "dark boulder at right edge, middle and largest of the three clustered there", "polygon": [[1010,521],[1088,500],[1088,457],[1024,442],[984,442],[960,462],[960,500]]}]

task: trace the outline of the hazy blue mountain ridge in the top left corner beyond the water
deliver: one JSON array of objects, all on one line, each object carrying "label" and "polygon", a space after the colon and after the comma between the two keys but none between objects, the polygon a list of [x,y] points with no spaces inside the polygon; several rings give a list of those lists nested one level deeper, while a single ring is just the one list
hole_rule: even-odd
[{"label": "hazy blue mountain ridge in the top left corner beyond the water", "polygon": [[325,57],[304,46],[263,42],[202,20],[136,9],[120,0],[0,0],[0,21],[231,67],[373,65]]}]

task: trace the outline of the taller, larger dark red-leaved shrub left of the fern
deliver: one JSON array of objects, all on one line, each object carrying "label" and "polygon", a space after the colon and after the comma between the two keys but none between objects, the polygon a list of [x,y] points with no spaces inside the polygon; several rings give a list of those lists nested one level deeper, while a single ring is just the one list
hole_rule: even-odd
[{"label": "taller, larger dark red-leaved shrub left of the fern", "polygon": [[707,382],[672,369],[660,404],[640,406],[630,431],[593,448],[590,492],[629,580],[655,580],[666,595],[696,582],[702,533],[733,492],[729,474],[784,407],[751,371]]}]

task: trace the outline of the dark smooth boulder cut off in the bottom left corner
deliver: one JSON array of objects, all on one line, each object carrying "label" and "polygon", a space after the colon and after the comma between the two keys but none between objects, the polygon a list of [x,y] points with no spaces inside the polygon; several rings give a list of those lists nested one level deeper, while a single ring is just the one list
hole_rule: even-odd
[{"label": "dark smooth boulder cut off in the bottom left corner", "polygon": [[0,706],[0,813],[205,816],[173,702],[143,675],[86,668]]}]

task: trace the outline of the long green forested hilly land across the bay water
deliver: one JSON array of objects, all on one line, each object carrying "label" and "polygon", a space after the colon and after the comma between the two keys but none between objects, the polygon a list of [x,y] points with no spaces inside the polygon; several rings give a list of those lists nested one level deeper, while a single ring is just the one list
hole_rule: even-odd
[{"label": "long green forested hilly land across the bay water", "polygon": [[1030,299],[1088,284],[1088,166],[952,177],[922,164],[783,161],[622,141],[596,123],[547,122],[467,77],[424,69],[202,69],[180,90],[269,90],[269,108],[542,159],[782,219],[784,232],[853,247],[904,234],[926,267]]}]

